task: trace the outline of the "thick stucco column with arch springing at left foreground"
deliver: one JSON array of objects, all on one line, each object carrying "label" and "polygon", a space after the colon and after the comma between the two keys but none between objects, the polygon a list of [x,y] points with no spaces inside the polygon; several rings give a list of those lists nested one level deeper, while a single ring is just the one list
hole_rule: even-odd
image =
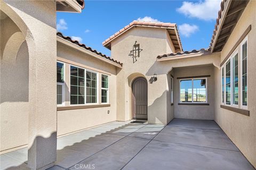
[{"label": "thick stucco column with arch springing at left foreground", "polygon": [[17,23],[28,45],[28,166],[46,169],[57,156],[56,4],[54,1],[4,3],[4,11]]}]

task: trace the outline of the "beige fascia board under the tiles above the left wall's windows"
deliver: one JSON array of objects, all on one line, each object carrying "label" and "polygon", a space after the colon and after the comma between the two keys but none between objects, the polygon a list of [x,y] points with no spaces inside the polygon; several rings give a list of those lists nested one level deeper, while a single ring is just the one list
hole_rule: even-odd
[{"label": "beige fascia board under the tiles above the left wall's windows", "polygon": [[65,45],[67,45],[69,47],[75,48],[75,49],[79,50],[80,52],[83,52],[85,54],[93,56],[93,57],[95,57],[95,58],[97,58],[97,59],[99,59],[99,60],[101,60],[103,62],[107,62],[107,63],[109,63],[111,65],[114,65],[114,66],[119,67],[119,68],[122,69],[122,66],[120,64],[112,62],[112,61],[108,60],[107,58],[103,58],[103,57],[101,57],[101,56],[99,56],[99,55],[97,55],[97,54],[95,54],[93,52],[90,52],[90,50],[84,49],[83,47],[80,47],[80,46],[78,46],[78,45],[76,45],[76,44],[74,44],[74,43],[72,43],[72,42],[70,42],[70,41],[68,41],[66,39],[63,39],[63,38],[57,36],[57,41],[59,41],[62,44],[65,44]]}]

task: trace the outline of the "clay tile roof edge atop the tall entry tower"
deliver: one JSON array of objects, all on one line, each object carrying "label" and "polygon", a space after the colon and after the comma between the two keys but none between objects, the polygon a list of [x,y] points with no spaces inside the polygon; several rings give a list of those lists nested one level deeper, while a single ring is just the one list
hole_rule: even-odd
[{"label": "clay tile roof edge atop the tall entry tower", "polygon": [[141,27],[155,27],[155,28],[165,28],[165,29],[176,29],[177,31],[177,39],[179,40],[179,44],[180,44],[180,50],[182,51],[182,45],[181,45],[181,41],[180,41],[180,36],[178,33],[178,29],[177,29],[177,24],[175,23],[164,23],[164,22],[146,22],[146,21],[132,21],[129,25],[126,25],[124,28],[122,28],[121,30],[119,30],[118,32],[116,32],[113,36],[110,36],[108,39],[106,39],[105,41],[103,41],[102,45],[107,47],[107,45],[116,37],[120,36],[122,33],[124,33],[125,31],[135,27],[135,26],[141,26]]}]

